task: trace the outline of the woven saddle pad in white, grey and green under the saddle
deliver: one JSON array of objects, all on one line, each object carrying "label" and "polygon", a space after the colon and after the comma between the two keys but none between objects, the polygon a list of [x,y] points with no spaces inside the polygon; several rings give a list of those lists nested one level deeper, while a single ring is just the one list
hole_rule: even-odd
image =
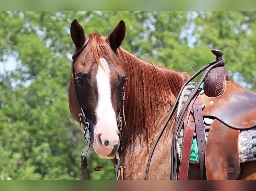
[{"label": "woven saddle pad in white, grey and green under the saddle", "polygon": [[[182,106],[186,102],[190,93],[194,90],[196,82],[189,83],[181,93],[180,102],[177,109],[177,115],[180,112]],[[201,86],[203,87],[203,85]],[[180,131],[180,136],[177,142],[178,158],[180,160],[181,155],[181,144],[183,139],[183,129]],[[248,162],[256,160],[256,127],[248,130],[240,130],[238,138],[238,149],[240,162]],[[194,137],[191,146],[190,163],[198,163],[198,148],[197,140]]]}]

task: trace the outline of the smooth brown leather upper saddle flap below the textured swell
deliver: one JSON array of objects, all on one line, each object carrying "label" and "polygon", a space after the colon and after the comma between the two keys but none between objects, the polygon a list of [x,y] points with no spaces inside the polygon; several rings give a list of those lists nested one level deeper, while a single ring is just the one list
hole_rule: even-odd
[{"label": "smooth brown leather upper saddle flap below the textured swell", "polygon": [[256,126],[256,93],[234,82],[226,81],[224,93],[217,97],[203,98],[204,117],[218,119],[235,129],[248,129]]}]

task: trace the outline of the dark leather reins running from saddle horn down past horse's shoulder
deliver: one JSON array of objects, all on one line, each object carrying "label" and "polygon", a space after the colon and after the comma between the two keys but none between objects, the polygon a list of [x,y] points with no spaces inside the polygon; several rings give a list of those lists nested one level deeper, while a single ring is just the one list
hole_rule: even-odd
[{"label": "dark leather reins running from saddle horn down past horse's shoulder", "polygon": [[154,150],[162,136],[162,134],[164,133],[168,123],[170,122],[171,118],[173,117],[173,114],[174,112],[176,111],[177,109],[177,106],[178,106],[178,103],[180,101],[180,96],[181,96],[181,93],[182,91],[184,90],[185,86],[191,82],[195,77],[197,77],[199,74],[201,74],[203,71],[205,71],[203,73],[203,75],[201,76],[200,80],[198,81],[196,87],[194,88],[193,92],[189,95],[186,103],[183,105],[182,109],[180,110],[177,118],[176,118],[176,121],[175,121],[175,124],[174,124],[174,132],[173,132],[173,137],[172,137],[172,144],[171,144],[171,176],[170,176],[170,179],[171,180],[177,180],[177,160],[178,160],[178,156],[177,156],[177,139],[179,137],[179,134],[180,134],[180,131],[181,131],[181,128],[182,128],[182,117],[186,111],[186,109],[188,108],[190,102],[195,98],[195,96],[198,95],[198,89],[201,85],[201,83],[204,81],[206,75],[208,74],[208,72],[214,68],[214,67],[217,67],[217,66],[222,66],[224,63],[225,63],[225,60],[222,59],[222,57],[218,54],[218,51],[217,52],[214,52],[214,51],[217,51],[217,50],[212,50],[212,53],[215,54],[216,56],[216,61],[204,66],[203,68],[201,68],[198,72],[196,72],[193,76],[191,76],[187,81],[186,83],[182,86],[181,90],[180,90],[180,93],[177,97],[177,100],[174,104],[174,106],[172,107],[172,110],[167,118],[167,120],[165,121],[162,129],[160,130],[154,144],[153,144],[153,147],[150,151],[150,154],[149,154],[149,158],[148,158],[148,161],[147,161],[147,166],[146,166],[146,172],[145,172],[145,180],[148,180],[148,174],[149,174],[149,167],[150,167],[150,162],[151,162],[151,159],[152,159],[152,156],[153,156],[153,153],[154,153]]}]

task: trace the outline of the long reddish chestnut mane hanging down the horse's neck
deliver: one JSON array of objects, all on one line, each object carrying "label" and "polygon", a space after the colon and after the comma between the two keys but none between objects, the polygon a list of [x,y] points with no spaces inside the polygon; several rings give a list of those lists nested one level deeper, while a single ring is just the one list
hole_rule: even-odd
[{"label": "long reddish chestnut mane hanging down the horse's neck", "polygon": [[121,150],[135,147],[137,141],[146,142],[149,148],[159,128],[159,117],[167,116],[188,75],[140,60],[122,48],[117,56],[127,75],[124,105],[127,128],[123,129]]}]

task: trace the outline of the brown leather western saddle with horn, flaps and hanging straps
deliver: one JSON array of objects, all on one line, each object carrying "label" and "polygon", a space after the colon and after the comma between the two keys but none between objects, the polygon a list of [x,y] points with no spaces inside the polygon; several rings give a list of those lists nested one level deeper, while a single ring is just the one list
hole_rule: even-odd
[{"label": "brown leather western saddle with horn, flaps and hanging straps", "polygon": [[[213,49],[216,60],[222,51]],[[187,180],[192,139],[196,132],[201,179],[235,180],[240,174],[238,136],[241,129],[256,126],[256,93],[230,81],[224,63],[212,68],[203,90],[183,116],[178,180]],[[205,130],[209,129],[206,135]]]}]

